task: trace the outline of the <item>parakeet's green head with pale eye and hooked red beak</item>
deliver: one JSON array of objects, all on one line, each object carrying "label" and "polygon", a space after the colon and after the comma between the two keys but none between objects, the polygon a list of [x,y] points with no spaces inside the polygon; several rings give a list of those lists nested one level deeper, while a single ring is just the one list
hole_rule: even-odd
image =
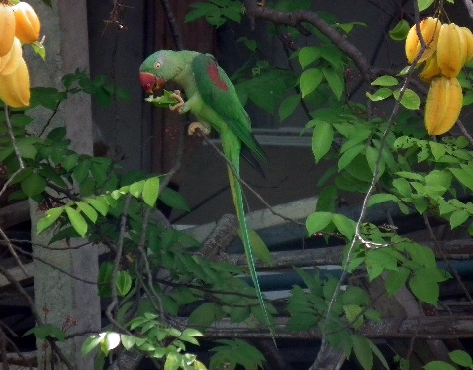
[{"label": "parakeet's green head with pale eye and hooked red beak", "polygon": [[139,67],[139,82],[143,89],[152,94],[161,89],[167,81],[172,80],[184,68],[179,52],[160,50],[151,54]]}]

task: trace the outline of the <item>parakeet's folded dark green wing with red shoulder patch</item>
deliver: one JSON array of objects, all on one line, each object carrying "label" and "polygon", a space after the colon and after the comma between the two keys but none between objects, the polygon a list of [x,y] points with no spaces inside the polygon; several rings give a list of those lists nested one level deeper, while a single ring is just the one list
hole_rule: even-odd
[{"label": "parakeet's folded dark green wing with red shoulder patch", "polygon": [[205,104],[212,107],[233,133],[263,162],[268,159],[251,132],[250,118],[241,105],[225,71],[211,56],[199,54],[192,61],[197,89]]}]

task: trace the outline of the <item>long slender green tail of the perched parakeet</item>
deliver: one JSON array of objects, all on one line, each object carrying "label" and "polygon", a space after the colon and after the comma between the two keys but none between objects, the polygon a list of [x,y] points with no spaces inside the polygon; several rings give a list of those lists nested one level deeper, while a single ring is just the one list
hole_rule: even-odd
[{"label": "long slender green tail of the perched parakeet", "polygon": [[[240,143],[238,142],[238,146],[239,144]],[[227,151],[226,149],[230,149],[230,150]],[[225,154],[227,155],[227,157],[229,157],[230,161],[232,162],[236,175],[239,176],[240,175],[239,174],[240,156],[239,156],[239,148],[237,149],[238,150],[236,150],[235,147],[233,148],[224,147],[224,152],[226,152]],[[253,253],[251,251],[250,237],[248,234],[248,227],[246,226],[245,210],[243,207],[243,191],[241,189],[241,184],[238,181],[238,179],[236,179],[236,177],[234,176],[232,169],[230,168],[230,166],[227,166],[227,167],[228,167],[228,176],[230,180],[230,189],[232,191],[233,203],[235,205],[235,210],[236,210],[236,218],[238,219],[239,224],[240,224],[240,232],[241,232],[240,236],[241,236],[241,241],[243,242],[243,248],[245,250],[246,260],[248,261],[248,268],[250,270],[251,279],[253,280],[253,285],[256,290],[256,296],[258,298],[258,302],[260,303],[261,309],[263,311],[263,315],[268,324],[271,338],[274,342],[274,345],[276,345],[276,339],[274,338],[274,333],[273,333],[272,326],[270,323],[270,318],[268,316],[268,312],[266,311],[265,302],[263,300],[263,294],[261,293],[258,277],[256,276],[255,261],[253,258]]]}]

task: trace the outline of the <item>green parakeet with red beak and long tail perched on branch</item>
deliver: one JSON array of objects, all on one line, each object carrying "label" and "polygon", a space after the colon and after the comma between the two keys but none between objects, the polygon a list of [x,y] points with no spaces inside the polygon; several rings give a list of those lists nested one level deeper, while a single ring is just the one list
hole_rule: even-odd
[{"label": "green parakeet with red beak and long tail perched on branch", "polygon": [[[250,118],[238,100],[232,82],[211,55],[188,50],[161,50],[146,58],[139,71],[141,85],[151,94],[153,90],[162,88],[167,81],[173,81],[184,88],[187,101],[184,102],[177,91],[173,95],[180,102],[172,106],[171,109],[177,109],[179,113],[191,112],[199,120],[202,126],[197,122],[192,123],[188,130],[190,134],[196,128],[206,134],[210,132],[211,128],[217,130],[220,134],[223,151],[233,164],[238,176],[242,148],[249,149],[258,159],[268,162],[263,149],[251,132]],[[230,167],[228,167],[228,175],[249,270],[258,301],[268,322],[271,336],[273,336],[263,295],[256,277],[241,185]]]}]

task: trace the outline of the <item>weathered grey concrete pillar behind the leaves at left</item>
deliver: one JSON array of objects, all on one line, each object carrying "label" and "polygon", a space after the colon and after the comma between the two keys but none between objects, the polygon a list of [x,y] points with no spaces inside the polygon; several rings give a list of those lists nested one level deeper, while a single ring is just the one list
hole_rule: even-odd
[{"label": "weathered grey concrete pillar behind the leaves at left", "polygon": [[[53,7],[46,6],[42,0],[30,0],[41,20],[41,36],[46,35],[46,61],[25,47],[27,64],[30,69],[32,86],[57,87],[63,89],[61,77],[73,73],[76,68],[89,69],[89,48],[87,32],[87,12],[85,1],[53,0]],[[34,118],[33,131],[38,133],[51,115],[51,111],[36,108],[30,113]],[[82,154],[92,155],[92,114],[90,96],[70,95],[62,102],[51,122],[48,131],[65,125],[67,136],[72,140],[72,149]],[[32,240],[47,244],[52,233],[36,235],[36,222],[42,217],[37,204],[31,202]],[[83,240],[71,240],[70,246]],[[66,243],[56,243],[56,247]],[[54,266],[67,270],[72,275],[86,280],[96,280],[98,255],[94,246],[75,250],[51,251],[35,246],[34,255]],[[79,282],[37,260],[34,261],[34,291],[36,306],[43,322],[59,328],[76,321],[68,333],[100,330],[100,301],[97,286]],[[75,369],[93,369],[93,357],[82,358],[80,348],[85,337],[75,337],[59,343],[65,356]],[[66,369],[51,355],[47,342],[38,341],[39,369]]]}]

